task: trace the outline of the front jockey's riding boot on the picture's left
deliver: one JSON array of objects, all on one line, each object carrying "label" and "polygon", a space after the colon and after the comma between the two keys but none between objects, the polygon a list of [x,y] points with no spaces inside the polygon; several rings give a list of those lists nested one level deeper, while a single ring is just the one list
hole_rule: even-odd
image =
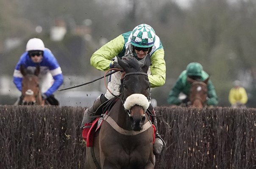
[{"label": "front jockey's riding boot on the picture's left", "polygon": [[88,109],[86,109],[84,111],[81,127],[83,127],[85,123],[91,122],[92,118],[90,117],[90,114],[93,114],[94,112],[96,112],[96,110],[99,108],[99,106],[107,100],[108,99],[103,94],[96,98],[96,100],[93,102],[92,106],[90,106]]}]

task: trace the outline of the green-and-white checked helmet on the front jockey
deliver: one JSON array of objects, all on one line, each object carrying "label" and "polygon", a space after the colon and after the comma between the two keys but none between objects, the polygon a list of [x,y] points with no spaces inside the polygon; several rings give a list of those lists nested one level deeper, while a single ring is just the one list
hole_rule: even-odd
[{"label": "green-and-white checked helmet on the front jockey", "polygon": [[138,25],[132,31],[131,44],[134,46],[148,48],[154,46],[155,41],[155,30],[147,24]]}]

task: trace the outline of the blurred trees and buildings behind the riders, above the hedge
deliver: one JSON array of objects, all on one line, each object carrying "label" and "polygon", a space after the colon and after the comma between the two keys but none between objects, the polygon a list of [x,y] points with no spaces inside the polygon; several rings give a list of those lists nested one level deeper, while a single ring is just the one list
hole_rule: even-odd
[{"label": "blurred trees and buildings behind the riders, above the hedge", "polygon": [[[1,0],[0,104],[14,104],[20,95],[12,75],[30,38],[41,38],[57,58],[61,89],[103,76],[90,65],[92,53],[141,23],[154,28],[165,50],[166,83],[151,95],[158,106],[168,105],[186,65],[199,62],[211,76],[218,106],[230,106],[228,93],[238,79],[247,106],[256,107],[255,0]],[[55,95],[62,106],[89,106],[105,92],[101,79]]]}]

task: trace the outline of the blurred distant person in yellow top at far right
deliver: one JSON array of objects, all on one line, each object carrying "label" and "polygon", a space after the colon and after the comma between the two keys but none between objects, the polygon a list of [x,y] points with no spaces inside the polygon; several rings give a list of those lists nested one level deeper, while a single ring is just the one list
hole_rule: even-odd
[{"label": "blurred distant person in yellow top at far right", "polygon": [[241,82],[239,80],[234,81],[234,87],[229,91],[228,101],[232,107],[242,106],[247,103],[248,97],[246,90],[241,86]]}]

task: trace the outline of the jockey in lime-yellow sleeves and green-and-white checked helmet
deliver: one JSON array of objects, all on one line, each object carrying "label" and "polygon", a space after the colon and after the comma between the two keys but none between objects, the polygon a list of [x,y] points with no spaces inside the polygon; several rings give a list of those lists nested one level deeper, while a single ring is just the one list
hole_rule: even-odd
[{"label": "jockey in lime-yellow sleeves and green-and-white checked helmet", "polygon": [[[121,68],[117,63],[117,57],[135,57],[139,62],[144,63],[146,56],[151,58],[151,66],[147,71],[150,87],[159,87],[165,83],[165,61],[164,48],[159,37],[155,34],[153,28],[147,24],[141,24],[134,30],[119,35],[117,38],[109,41],[98,49],[91,57],[91,65],[101,71],[107,71],[110,68]],[[109,76],[108,88],[119,95],[119,86],[121,84],[121,72],[116,72]],[[106,94],[100,95],[91,107],[86,109],[83,115],[82,127],[85,123],[89,123],[91,118],[89,114],[95,112],[97,108],[104,102],[114,98],[107,90]],[[155,115],[153,106],[150,104],[150,112]],[[157,128],[156,117],[154,117],[154,125]],[[163,148],[164,141],[161,139],[158,131],[156,131],[156,140],[153,145],[154,153],[159,154]]]}]

